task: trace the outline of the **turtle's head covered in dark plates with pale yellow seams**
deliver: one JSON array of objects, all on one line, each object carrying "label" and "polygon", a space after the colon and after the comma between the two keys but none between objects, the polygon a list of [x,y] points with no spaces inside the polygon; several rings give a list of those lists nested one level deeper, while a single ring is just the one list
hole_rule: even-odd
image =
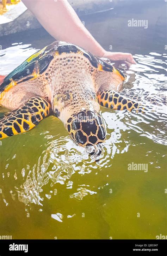
[{"label": "turtle's head covered in dark plates with pale yellow seams", "polygon": [[67,120],[66,128],[73,140],[82,146],[101,143],[106,132],[99,113],[85,110]]}]

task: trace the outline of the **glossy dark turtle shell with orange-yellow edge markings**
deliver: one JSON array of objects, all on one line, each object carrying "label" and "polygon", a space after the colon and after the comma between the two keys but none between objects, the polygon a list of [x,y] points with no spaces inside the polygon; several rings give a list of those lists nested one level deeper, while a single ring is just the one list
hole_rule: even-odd
[{"label": "glossy dark turtle shell with orange-yellow edge markings", "polygon": [[[21,65],[7,75],[0,85],[0,94],[8,91],[13,86],[19,85],[22,82],[37,78],[48,68],[52,59],[54,59],[57,55],[64,53],[81,54],[91,62],[93,67],[100,71],[113,72],[113,69],[115,71],[117,70],[112,65],[99,59],[79,46],[75,46],[72,43],[66,43],[63,41],[56,41],[31,55]],[[123,73],[119,70],[117,71],[119,75],[122,76],[122,80],[124,80],[125,77]]]}]

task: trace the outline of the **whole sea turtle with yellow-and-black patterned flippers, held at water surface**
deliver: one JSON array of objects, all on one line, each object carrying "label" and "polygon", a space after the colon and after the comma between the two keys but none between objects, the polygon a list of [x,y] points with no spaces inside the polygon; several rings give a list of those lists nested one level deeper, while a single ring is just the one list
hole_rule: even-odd
[{"label": "whole sea turtle with yellow-and-black patterned flippers, held at water surface", "polygon": [[27,132],[50,114],[82,146],[105,140],[100,105],[138,108],[120,95],[125,75],[72,43],[56,41],[30,56],[0,85],[0,104],[11,112],[0,118],[0,139]]}]

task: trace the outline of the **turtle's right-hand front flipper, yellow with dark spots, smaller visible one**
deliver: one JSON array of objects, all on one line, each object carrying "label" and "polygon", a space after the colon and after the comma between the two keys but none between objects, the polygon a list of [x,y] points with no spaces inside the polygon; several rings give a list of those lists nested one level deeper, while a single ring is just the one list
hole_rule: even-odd
[{"label": "turtle's right-hand front flipper, yellow with dark spots, smaller visible one", "polygon": [[97,92],[97,98],[100,106],[106,108],[116,110],[127,109],[128,111],[132,111],[132,109],[138,109],[140,107],[140,103],[137,99],[128,99],[128,97],[123,93],[113,90],[104,90],[101,88]]}]

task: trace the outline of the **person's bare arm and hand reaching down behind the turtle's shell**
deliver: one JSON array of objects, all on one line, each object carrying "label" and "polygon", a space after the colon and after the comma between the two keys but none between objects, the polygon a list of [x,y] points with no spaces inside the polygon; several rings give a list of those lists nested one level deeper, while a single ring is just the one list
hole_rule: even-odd
[{"label": "person's bare arm and hand reaching down behind the turtle's shell", "polygon": [[110,60],[135,61],[130,53],[106,51],[82,24],[67,0],[23,0],[42,26],[57,40],[79,45],[99,57]]}]

